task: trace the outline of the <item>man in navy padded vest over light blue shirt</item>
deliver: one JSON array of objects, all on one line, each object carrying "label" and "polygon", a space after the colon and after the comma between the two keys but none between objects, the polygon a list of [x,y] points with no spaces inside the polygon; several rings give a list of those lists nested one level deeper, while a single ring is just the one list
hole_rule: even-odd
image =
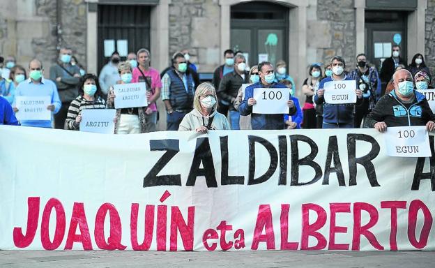
[{"label": "man in navy padded vest over light blue shirt", "polygon": [[178,131],[181,120],[193,107],[194,80],[184,54],[176,52],[172,66],[162,77],[162,101],[167,111],[167,130]]}]

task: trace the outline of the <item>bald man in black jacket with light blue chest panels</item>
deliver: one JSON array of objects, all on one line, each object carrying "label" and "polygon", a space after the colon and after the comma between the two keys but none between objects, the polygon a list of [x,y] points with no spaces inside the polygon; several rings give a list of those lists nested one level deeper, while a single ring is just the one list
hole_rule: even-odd
[{"label": "bald man in black jacket with light blue chest panels", "polygon": [[435,130],[435,115],[423,94],[414,90],[409,70],[397,70],[392,84],[395,89],[376,103],[367,115],[365,127],[385,132],[390,126],[426,126]]}]

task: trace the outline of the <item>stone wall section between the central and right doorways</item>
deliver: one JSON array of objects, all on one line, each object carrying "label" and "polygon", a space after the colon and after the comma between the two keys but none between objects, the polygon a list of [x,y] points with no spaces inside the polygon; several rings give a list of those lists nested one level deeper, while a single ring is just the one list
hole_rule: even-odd
[{"label": "stone wall section between the central and right doorways", "polygon": [[353,66],[357,54],[356,16],[353,1],[318,0],[316,15],[321,29],[327,35],[326,38],[323,37],[326,42],[319,46],[321,61],[329,62],[333,56],[339,55],[344,58],[347,69],[349,69]]}]

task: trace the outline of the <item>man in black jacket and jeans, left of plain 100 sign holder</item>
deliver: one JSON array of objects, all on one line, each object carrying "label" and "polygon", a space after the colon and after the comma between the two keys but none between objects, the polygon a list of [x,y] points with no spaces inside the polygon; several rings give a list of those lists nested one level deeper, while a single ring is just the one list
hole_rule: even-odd
[{"label": "man in black jacket and jeans, left of plain 100 sign holder", "polygon": [[242,84],[249,83],[249,72],[245,71],[246,59],[243,54],[237,54],[234,57],[234,71],[224,75],[220,80],[219,89],[217,89],[217,96],[220,101],[231,103],[229,105],[229,121],[231,129],[240,129],[240,112],[234,108],[234,101],[237,98],[238,89]]}]

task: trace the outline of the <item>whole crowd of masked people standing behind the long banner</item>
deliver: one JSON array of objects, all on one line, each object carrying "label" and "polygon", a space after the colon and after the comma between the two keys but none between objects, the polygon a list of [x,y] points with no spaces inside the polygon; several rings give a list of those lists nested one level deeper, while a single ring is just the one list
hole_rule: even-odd
[{"label": "whole crowd of masked people standing behind the long banner", "polygon": [[[285,61],[277,61],[275,66],[264,61],[249,67],[241,52],[226,50],[223,56],[224,63],[215,69],[211,83],[199,81],[188,50],[176,52],[171,66],[162,73],[151,67],[151,54],[146,49],[128,54],[125,61],[114,52],[98,77],[86,73],[68,48],[59,51],[58,62],[49,69],[47,78],[38,59],[32,59],[26,69],[17,65],[14,57],[0,57],[0,124],[77,131],[83,110],[114,109],[114,85],[145,82],[148,105],[116,109],[114,133],[157,131],[158,98],[165,105],[168,131],[367,127],[383,132],[388,126],[435,129],[435,115],[419,92],[433,88],[429,68],[422,54],[415,54],[407,65],[398,45],[392,47],[392,56],[383,61],[379,74],[365,54],[358,54],[355,67],[348,66],[347,70],[344,59],[335,56],[327,64],[312,64],[301,87],[289,76]],[[326,101],[325,84],[342,80],[355,81],[356,103]],[[286,89],[288,112],[253,112],[258,101],[254,89],[259,88]],[[305,96],[305,100],[300,101],[296,95]],[[17,96],[49,96],[47,110],[52,112],[52,119],[18,121]]]}]

